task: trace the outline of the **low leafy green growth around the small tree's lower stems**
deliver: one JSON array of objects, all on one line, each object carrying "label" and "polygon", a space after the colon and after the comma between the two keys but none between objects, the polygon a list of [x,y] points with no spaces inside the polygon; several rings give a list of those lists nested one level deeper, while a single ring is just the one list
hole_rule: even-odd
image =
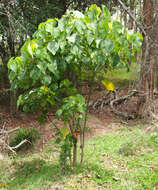
[{"label": "low leafy green growth around the small tree's lower stems", "polygon": [[[68,166],[72,166],[72,155],[74,158],[74,152],[72,154],[72,148],[75,147],[75,143],[78,141],[78,135],[82,131],[82,121],[85,115],[85,100],[80,94],[76,96],[69,96],[63,99],[62,106],[57,110],[56,115],[61,119],[65,126],[60,129],[58,134],[60,135],[56,140],[60,143],[60,164],[63,169]],[[77,151],[77,147],[76,151]],[[75,158],[77,157],[77,153]],[[69,159],[69,165],[67,163]],[[73,164],[74,163],[73,159]]]}]

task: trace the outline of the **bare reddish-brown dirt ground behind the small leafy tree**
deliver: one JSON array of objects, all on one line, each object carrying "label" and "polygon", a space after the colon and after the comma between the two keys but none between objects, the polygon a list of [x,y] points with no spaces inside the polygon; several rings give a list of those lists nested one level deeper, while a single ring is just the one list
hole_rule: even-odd
[{"label": "bare reddish-brown dirt ground behind the small leafy tree", "polygon": [[[119,96],[126,94],[127,91],[120,91]],[[95,101],[98,98],[103,97],[105,90],[96,89],[92,95],[92,100]],[[86,97],[86,96],[85,96]],[[134,111],[135,109],[135,99],[132,98],[128,102],[128,106],[124,103],[119,105],[117,109],[122,111]],[[127,102],[126,102],[127,103]],[[2,105],[2,104],[1,104]],[[24,126],[26,128],[36,127],[41,135],[41,139],[38,140],[37,146],[38,150],[42,150],[43,145],[47,143],[50,139],[55,138],[55,132],[52,126],[52,122],[56,120],[55,116],[49,117],[49,121],[44,125],[40,125],[36,120],[36,116],[33,114],[24,114],[23,112],[18,112],[16,117],[13,117],[9,114],[8,106],[0,107],[0,125],[6,122],[5,128],[7,130]],[[123,121],[120,117],[116,116],[109,105],[105,106],[101,112],[96,113],[95,110],[88,115],[87,121],[87,138],[95,137],[99,134],[105,134],[111,132],[115,128],[123,124],[132,124],[133,121]],[[60,123],[62,125],[62,123]]]}]

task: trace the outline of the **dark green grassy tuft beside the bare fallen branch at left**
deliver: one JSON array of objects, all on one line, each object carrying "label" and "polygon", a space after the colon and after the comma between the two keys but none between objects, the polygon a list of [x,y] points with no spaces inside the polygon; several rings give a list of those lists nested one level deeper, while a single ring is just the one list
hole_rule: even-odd
[{"label": "dark green grassy tuft beside the bare fallen branch at left", "polygon": [[37,131],[37,129],[35,128],[24,128],[24,127],[20,127],[20,129],[15,133],[15,135],[13,136],[13,138],[11,139],[9,145],[11,147],[14,147],[16,145],[18,145],[21,141],[23,140],[28,140],[30,143],[25,143],[22,146],[20,146],[17,150],[26,150],[27,148],[29,148],[30,146],[33,146],[35,141],[39,138],[39,133]]}]

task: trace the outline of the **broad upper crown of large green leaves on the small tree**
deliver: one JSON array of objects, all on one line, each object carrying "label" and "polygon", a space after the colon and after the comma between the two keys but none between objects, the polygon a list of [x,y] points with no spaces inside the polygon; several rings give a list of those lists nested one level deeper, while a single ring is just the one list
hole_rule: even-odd
[{"label": "broad upper crown of large green leaves on the small tree", "polygon": [[[118,64],[127,66],[129,59],[134,60],[141,40],[139,33],[124,32],[123,25],[111,19],[105,6],[101,10],[92,5],[85,14],[69,11],[61,19],[41,23],[33,39],[25,42],[20,57],[10,59],[11,89],[30,89],[38,85],[48,87],[48,91],[58,97],[71,95],[75,84],[83,80],[82,73],[92,71],[94,74]],[[63,89],[65,80],[73,82]],[[29,96],[31,98],[28,93]],[[51,99],[54,101],[54,97]]]}]

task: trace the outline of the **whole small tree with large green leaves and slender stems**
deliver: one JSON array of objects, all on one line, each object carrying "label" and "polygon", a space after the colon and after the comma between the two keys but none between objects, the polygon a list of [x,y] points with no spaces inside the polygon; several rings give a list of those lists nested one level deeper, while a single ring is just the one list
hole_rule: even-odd
[{"label": "whole small tree with large green leaves and slender stems", "polygon": [[[118,64],[128,68],[128,60],[135,60],[141,41],[139,33],[113,20],[105,6],[94,4],[84,14],[71,10],[60,19],[41,23],[21,48],[21,55],[8,62],[11,89],[25,90],[18,106],[38,112],[40,121],[46,121],[52,107],[57,109],[57,116],[70,131],[63,139],[71,139],[73,164],[79,137],[83,161],[87,107],[96,74]],[[85,80],[90,86],[86,102],[82,96]]]}]

